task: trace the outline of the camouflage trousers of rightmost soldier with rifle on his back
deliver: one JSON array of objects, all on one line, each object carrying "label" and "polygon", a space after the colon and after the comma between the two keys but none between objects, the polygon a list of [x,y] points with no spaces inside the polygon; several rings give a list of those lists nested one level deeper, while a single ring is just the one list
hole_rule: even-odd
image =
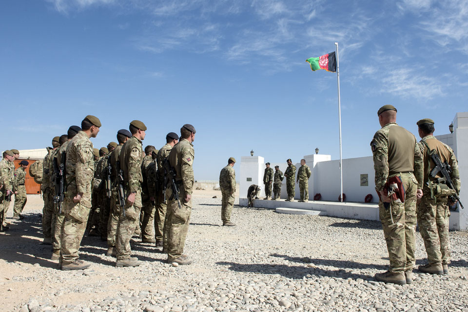
[{"label": "camouflage trousers of rightmost soldier with rifle on his back", "polygon": [[418,204],[419,233],[424,240],[429,265],[450,263],[450,241],[448,236],[447,196],[430,198],[429,188],[423,189]]}]

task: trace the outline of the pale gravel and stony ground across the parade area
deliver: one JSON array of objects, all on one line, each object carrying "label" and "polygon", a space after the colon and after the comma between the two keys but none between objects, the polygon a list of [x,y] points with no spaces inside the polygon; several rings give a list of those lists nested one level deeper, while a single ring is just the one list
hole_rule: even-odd
[{"label": "pale gravel and stony ground across the parade area", "polygon": [[[39,245],[41,200],[28,196],[26,218],[0,234],[0,310],[468,312],[468,232],[450,233],[448,275],[415,270],[411,285],[383,284],[373,280],[388,265],[379,222],[235,206],[237,226],[221,227],[221,196],[212,193],[194,196],[185,245],[192,265],[166,264],[135,238],[144,264],[116,268],[105,242],[84,237],[81,258],[92,266],[80,272],[49,260],[50,246]],[[419,234],[416,256],[426,263]]]}]

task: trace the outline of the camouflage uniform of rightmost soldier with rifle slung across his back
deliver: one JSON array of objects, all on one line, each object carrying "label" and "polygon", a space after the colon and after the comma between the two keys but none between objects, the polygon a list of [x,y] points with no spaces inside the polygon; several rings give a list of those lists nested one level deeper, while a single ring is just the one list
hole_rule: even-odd
[{"label": "camouflage uniform of rightmost soldier with rifle slung across his back", "polygon": [[424,157],[423,197],[417,209],[419,233],[426,246],[429,266],[437,264],[445,265],[450,263],[450,241],[448,236],[448,217],[450,216],[450,212],[448,210],[448,195],[434,194],[436,193],[434,192],[434,188],[438,184],[435,179],[442,177],[442,175],[439,172],[435,178],[429,178],[430,171],[435,167],[435,163],[430,159],[429,152],[436,149],[442,163],[448,162],[452,169],[450,178],[455,188],[457,188],[457,192],[460,191],[458,163],[452,149],[437,140],[434,136],[423,137],[418,144]]}]

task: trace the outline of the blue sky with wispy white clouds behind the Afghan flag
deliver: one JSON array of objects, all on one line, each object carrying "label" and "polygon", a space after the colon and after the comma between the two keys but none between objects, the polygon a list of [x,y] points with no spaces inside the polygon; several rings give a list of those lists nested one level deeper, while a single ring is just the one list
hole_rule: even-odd
[{"label": "blue sky with wispy white clouds behind the Afghan flag", "polygon": [[[467,111],[467,1],[10,0],[0,4],[0,149],[32,149],[96,115],[95,147],[133,119],[144,145],[195,126],[195,178],[230,156],[370,156],[378,108],[417,135]],[[239,169],[236,164],[235,169]]]}]

